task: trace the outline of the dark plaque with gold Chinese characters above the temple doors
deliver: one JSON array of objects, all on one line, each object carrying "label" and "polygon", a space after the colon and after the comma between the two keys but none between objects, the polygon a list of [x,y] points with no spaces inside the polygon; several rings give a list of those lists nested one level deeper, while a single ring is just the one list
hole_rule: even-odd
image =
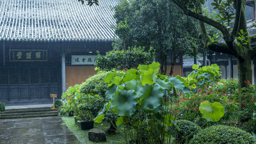
[{"label": "dark plaque with gold Chinese characters above the temple doors", "polygon": [[47,50],[10,49],[10,61],[47,61]]}]

